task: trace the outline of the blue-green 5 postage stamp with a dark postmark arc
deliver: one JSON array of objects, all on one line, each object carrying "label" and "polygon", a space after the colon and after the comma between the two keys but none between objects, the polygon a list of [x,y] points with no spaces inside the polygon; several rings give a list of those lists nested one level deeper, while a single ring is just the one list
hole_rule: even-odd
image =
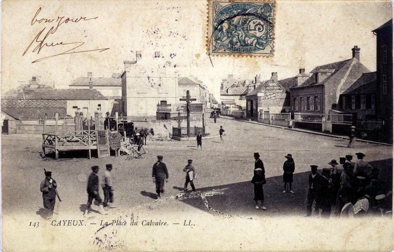
[{"label": "blue-green 5 postage stamp with a dark postmark arc", "polygon": [[274,1],[209,1],[209,55],[273,56]]}]

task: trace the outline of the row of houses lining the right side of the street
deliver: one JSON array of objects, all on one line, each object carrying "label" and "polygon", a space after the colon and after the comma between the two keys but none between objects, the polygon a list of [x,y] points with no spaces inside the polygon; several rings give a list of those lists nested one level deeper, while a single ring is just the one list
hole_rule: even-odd
[{"label": "row of houses lining the right side of the street", "polygon": [[392,139],[392,19],[372,31],[377,36],[377,71],[360,59],[360,48],[351,48],[351,58],[299,69],[293,77],[278,79],[278,73],[260,80],[235,79],[221,83],[222,109],[245,111],[258,120],[261,113],[310,115],[351,114],[353,119],[383,119]]}]

